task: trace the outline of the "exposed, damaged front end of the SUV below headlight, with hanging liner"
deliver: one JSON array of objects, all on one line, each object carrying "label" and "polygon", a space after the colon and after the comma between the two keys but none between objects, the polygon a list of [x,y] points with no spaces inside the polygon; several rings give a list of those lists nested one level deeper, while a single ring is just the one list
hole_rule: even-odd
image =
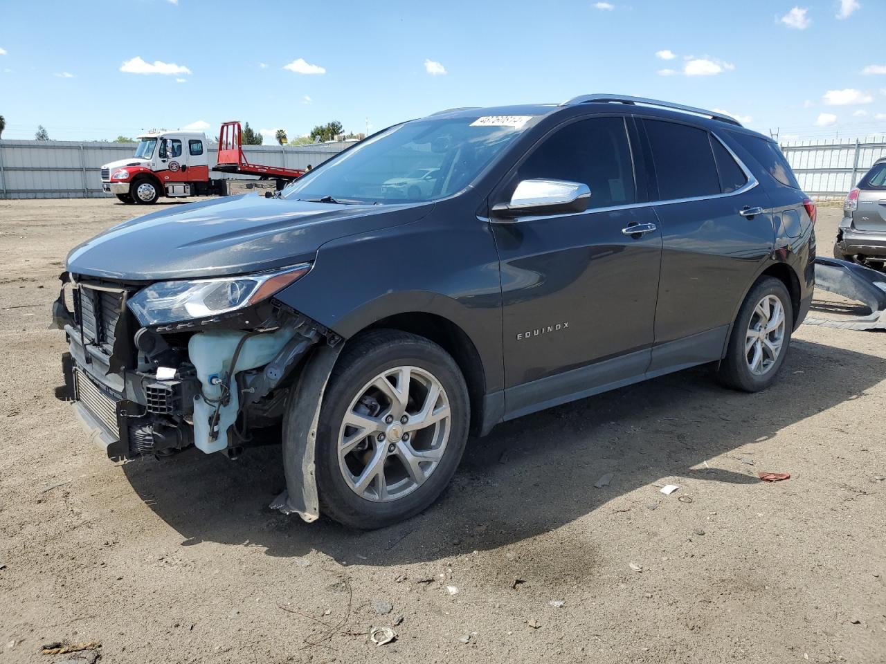
[{"label": "exposed, damaged front end of the SUV below headlight, with hanging liner", "polygon": [[[72,313],[68,281],[63,274],[53,327],[68,342],[66,399],[92,443],[115,460],[166,457],[191,445],[236,458],[253,426],[285,418],[286,491],[272,506],[308,522],[318,518],[316,429],[340,337],[273,300],[249,313],[141,328],[133,336],[137,323],[120,297],[113,334],[106,335],[112,349],[102,343],[99,316],[89,319],[77,298],[82,289],[113,289],[74,283]],[[244,328],[245,320],[261,322]]]}]

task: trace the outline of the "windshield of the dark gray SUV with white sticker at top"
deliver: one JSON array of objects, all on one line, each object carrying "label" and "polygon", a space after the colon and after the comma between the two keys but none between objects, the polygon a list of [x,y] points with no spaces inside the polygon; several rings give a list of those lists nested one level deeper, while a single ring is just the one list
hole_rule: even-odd
[{"label": "windshield of the dark gray SUV with white sticker at top", "polygon": [[417,203],[451,196],[538,116],[415,120],[391,127],[293,181],[285,198]]}]

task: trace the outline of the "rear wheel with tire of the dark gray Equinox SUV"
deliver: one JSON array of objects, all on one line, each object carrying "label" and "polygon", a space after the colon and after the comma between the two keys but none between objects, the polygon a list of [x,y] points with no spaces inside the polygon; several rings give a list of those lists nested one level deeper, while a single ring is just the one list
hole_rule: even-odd
[{"label": "rear wheel with tire of the dark gray Equinox SUV", "polygon": [[788,354],[794,308],[785,285],[760,279],[745,297],[729,336],[719,381],[734,390],[757,392],[775,380]]}]

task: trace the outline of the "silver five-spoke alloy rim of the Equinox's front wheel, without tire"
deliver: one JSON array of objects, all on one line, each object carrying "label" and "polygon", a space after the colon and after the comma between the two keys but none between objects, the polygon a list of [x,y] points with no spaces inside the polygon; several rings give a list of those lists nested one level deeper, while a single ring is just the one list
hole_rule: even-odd
[{"label": "silver five-spoke alloy rim of the Equinox's front wheel, without tire", "polygon": [[338,467],[361,498],[387,502],[418,489],[439,466],[449,399],[419,367],[385,369],[357,391],[338,431]]}]

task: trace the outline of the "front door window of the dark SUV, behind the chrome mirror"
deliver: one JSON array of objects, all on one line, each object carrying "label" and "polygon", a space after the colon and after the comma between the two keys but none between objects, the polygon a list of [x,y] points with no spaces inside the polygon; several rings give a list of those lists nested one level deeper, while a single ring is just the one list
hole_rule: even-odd
[{"label": "front door window of the dark SUV, behind the chrome mirror", "polygon": [[533,178],[587,184],[591,189],[589,208],[635,203],[633,160],[624,118],[591,118],[557,129],[519,166],[510,191],[518,181]]}]

